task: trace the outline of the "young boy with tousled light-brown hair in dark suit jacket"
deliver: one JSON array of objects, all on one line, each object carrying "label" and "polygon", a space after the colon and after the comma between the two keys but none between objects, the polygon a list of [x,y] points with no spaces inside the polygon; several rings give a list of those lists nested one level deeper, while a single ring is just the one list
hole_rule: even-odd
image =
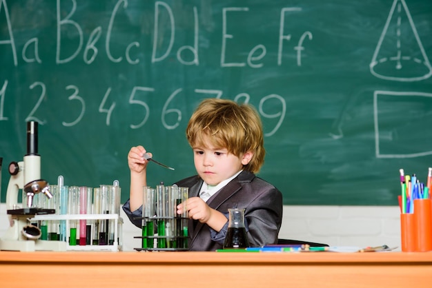
[{"label": "young boy with tousled light-brown hair in dark suit jacket", "polygon": [[[186,137],[193,149],[197,175],[178,181],[189,188],[190,251],[222,249],[228,230],[228,208],[245,208],[245,226],[251,247],[277,243],[282,223],[282,194],[255,176],[264,163],[261,119],[247,104],[224,99],[205,99],[191,116]],[[143,187],[147,185],[146,149],[132,147],[128,154],[130,198],[124,212],[141,227]],[[186,205],[184,205],[186,204]]]}]

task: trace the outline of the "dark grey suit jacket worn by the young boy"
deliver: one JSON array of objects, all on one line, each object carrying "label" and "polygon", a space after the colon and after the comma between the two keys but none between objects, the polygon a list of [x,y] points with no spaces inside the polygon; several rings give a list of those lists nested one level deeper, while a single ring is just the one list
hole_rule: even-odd
[{"label": "dark grey suit jacket worn by the young boy", "polygon": [[[195,197],[198,196],[202,183],[199,176],[191,176],[175,184],[188,187],[189,197]],[[243,171],[208,199],[207,204],[223,214],[228,214],[228,208],[245,208],[247,235],[251,247],[277,243],[282,224],[282,193],[255,174]],[[129,200],[123,209],[132,223],[141,227],[141,220],[133,219],[141,216],[141,209],[130,212]],[[221,243],[212,240],[210,227],[197,220],[189,220],[188,234],[190,251],[222,249]]]}]

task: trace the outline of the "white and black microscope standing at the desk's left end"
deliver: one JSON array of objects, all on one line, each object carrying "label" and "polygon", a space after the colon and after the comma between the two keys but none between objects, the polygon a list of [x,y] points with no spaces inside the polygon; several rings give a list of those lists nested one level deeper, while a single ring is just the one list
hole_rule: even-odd
[{"label": "white and black microscope standing at the desk's left end", "polygon": [[[27,154],[23,161],[9,165],[10,180],[6,192],[6,209],[10,227],[0,238],[0,250],[10,251],[66,251],[66,242],[39,240],[41,229],[30,219],[39,214],[55,214],[55,209],[34,207],[36,194],[52,198],[50,186],[41,179],[41,156],[37,154],[37,122],[27,123]],[[23,208],[18,207],[19,189],[22,189]]]}]

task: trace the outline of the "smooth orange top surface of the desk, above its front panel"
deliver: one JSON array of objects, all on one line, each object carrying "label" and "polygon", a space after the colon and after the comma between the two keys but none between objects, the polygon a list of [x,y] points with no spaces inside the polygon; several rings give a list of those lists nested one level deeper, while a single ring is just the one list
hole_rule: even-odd
[{"label": "smooth orange top surface of the desk, above its front panel", "polygon": [[152,263],[171,264],[283,264],[297,263],[418,263],[432,265],[432,252],[404,253],[404,252],[364,252],[364,253],[336,253],[336,252],[302,252],[302,253],[244,253],[244,252],[169,252],[169,251],[35,251],[17,252],[0,251],[0,264],[5,263],[136,263],[148,265]]}]

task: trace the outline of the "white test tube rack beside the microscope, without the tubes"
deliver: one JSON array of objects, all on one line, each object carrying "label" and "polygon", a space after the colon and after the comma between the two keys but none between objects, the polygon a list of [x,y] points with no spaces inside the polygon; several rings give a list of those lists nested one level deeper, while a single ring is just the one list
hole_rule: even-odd
[{"label": "white test tube rack beside the microscope, without the tubes", "polygon": [[122,227],[123,218],[119,214],[47,214],[36,215],[31,221],[66,220],[66,231],[70,231],[71,220],[114,220],[114,243],[112,245],[69,245],[67,251],[121,251],[123,249]]}]

